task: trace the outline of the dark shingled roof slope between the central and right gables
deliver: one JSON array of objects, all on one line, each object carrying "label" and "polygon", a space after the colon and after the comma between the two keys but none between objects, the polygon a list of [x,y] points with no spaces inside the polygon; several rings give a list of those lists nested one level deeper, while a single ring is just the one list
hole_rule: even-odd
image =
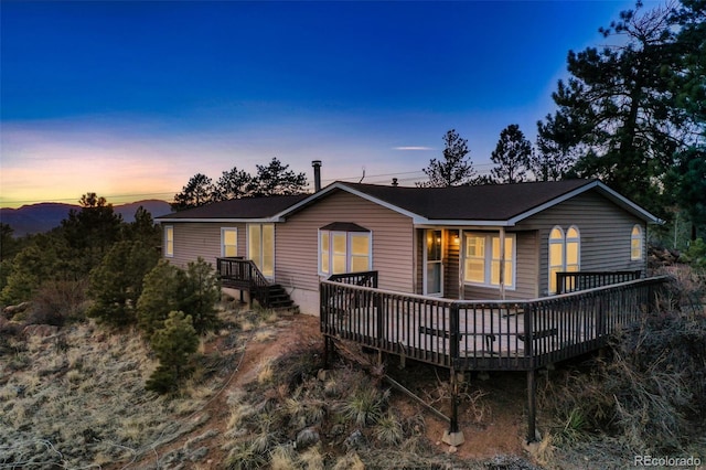
[{"label": "dark shingled roof slope between the central and right gables", "polygon": [[428,220],[506,221],[591,181],[565,180],[451,188],[342,184]]}]

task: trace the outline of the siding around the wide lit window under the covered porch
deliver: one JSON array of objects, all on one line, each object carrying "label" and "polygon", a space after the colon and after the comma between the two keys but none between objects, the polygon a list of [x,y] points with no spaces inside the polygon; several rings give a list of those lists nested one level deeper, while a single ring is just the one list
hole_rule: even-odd
[{"label": "siding around the wide lit window under the covered porch", "polygon": [[[496,234],[498,231],[493,231],[491,233]],[[515,260],[515,287],[505,287],[505,299],[534,299],[538,297],[537,279],[539,265],[537,259],[537,234],[534,231],[513,232],[510,229],[506,229],[505,234],[514,234],[517,244]],[[463,298],[466,300],[499,300],[500,288],[481,287],[466,284],[463,286]]]}]

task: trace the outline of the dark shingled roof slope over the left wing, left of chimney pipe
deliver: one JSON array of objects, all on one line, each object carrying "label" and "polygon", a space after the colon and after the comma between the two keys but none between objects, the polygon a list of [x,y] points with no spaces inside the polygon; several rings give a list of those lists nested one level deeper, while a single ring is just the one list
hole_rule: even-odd
[{"label": "dark shingled roof slope over the left wing, left of chimney pipe", "polygon": [[311,194],[243,197],[214,202],[194,209],[174,212],[161,217],[160,221],[179,221],[183,218],[267,218],[280,213],[287,207],[309,197]]}]

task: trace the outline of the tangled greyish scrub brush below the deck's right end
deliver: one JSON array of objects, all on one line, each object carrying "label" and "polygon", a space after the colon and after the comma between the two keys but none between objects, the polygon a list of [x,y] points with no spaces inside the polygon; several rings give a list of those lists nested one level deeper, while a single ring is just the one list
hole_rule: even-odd
[{"label": "tangled greyish scrub brush below the deck's right end", "polygon": [[[672,452],[699,434],[706,419],[706,314],[665,311],[614,338],[590,373],[571,371],[544,400],[558,419],[557,436],[606,432],[631,450]],[[579,436],[580,437],[580,436]]]}]

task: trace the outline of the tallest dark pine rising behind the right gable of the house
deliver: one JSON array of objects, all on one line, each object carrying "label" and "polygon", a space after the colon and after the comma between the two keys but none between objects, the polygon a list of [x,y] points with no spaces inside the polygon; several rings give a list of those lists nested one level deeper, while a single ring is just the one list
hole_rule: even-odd
[{"label": "tallest dark pine rising behind the right gable of the house", "polygon": [[664,205],[655,182],[663,181],[689,129],[674,99],[681,82],[675,71],[683,64],[675,24],[668,8],[624,11],[599,30],[622,38],[619,46],[570,51],[571,77],[559,81],[553,95],[559,109],[538,129],[557,149],[576,152],[576,175],[600,178],[655,213]]}]

